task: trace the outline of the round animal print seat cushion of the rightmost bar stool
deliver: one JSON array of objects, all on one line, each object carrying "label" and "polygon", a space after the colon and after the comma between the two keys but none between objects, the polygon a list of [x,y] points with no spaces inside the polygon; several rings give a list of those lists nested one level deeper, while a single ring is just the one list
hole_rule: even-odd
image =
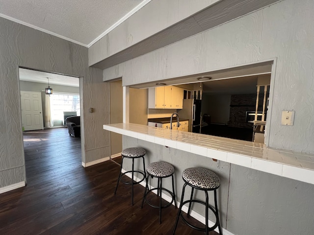
[{"label": "round animal print seat cushion of the rightmost bar stool", "polygon": [[191,167],[183,170],[182,178],[190,185],[199,188],[218,188],[220,186],[219,177],[212,171],[201,167]]}]

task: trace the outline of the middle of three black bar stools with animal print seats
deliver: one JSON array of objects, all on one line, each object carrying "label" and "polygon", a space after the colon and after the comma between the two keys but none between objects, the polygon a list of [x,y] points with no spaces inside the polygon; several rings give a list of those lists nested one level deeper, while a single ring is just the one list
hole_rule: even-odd
[{"label": "middle of three black bar stools with animal print seats", "polygon": [[[174,180],[173,180],[173,173],[175,172],[175,167],[170,163],[155,162],[155,163],[149,164],[146,168],[146,171],[147,171],[146,186],[145,186],[145,192],[144,192],[141,208],[143,208],[144,200],[151,207],[158,208],[159,209],[159,224],[161,224],[161,209],[169,207],[170,205],[172,205],[173,202],[175,202],[175,207],[177,207],[176,206],[177,204],[176,204]],[[147,191],[149,176],[151,176],[152,178],[154,178],[154,177],[158,178],[158,183],[157,183],[157,188],[152,188],[152,189]],[[162,179],[170,177],[170,176],[172,177],[172,192],[166,188],[162,188]],[[147,200],[147,197],[146,197],[149,192],[156,190],[156,189],[157,189],[157,196],[159,196],[159,205],[158,206],[149,202]],[[171,202],[169,202],[166,205],[161,205],[162,190],[167,191],[170,194],[170,196],[172,197]]]}]

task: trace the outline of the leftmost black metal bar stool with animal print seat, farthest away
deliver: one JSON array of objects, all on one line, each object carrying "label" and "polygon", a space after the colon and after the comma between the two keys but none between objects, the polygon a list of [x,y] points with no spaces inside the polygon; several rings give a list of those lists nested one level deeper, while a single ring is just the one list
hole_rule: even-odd
[{"label": "leftmost black metal bar stool with animal print seat, farthest away", "polygon": [[[131,193],[131,197],[132,197],[132,206],[133,206],[133,185],[139,184],[141,183],[145,178],[146,178],[146,173],[145,173],[145,160],[144,160],[144,155],[146,154],[145,149],[143,148],[137,148],[137,147],[132,147],[132,148],[126,148],[122,150],[121,156],[122,156],[122,160],[121,160],[121,167],[120,167],[120,174],[119,174],[119,178],[118,178],[118,183],[117,183],[117,187],[116,190],[114,191],[114,195],[116,195],[117,192],[117,188],[119,185],[119,181],[121,181],[122,183],[126,184],[126,185],[131,185],[132,186],[132,193]],[[131,158],[132,159],[132,170],[126,171],[124,173],[122,173],[122,164],[123,164],[123,160],[124,158]],[[136,158],[143,158],[143,168],[144,168],[144,173],[138,170],[134,170],[134,159]],[[127,174],[127,173],[132,173],[132,180],[131,183],[124,181],[122,179],[122,176]],[[137,172],[141,175],[143,175],[143,179],[141,179],[138,182],[134,182],[134,172]]]}]

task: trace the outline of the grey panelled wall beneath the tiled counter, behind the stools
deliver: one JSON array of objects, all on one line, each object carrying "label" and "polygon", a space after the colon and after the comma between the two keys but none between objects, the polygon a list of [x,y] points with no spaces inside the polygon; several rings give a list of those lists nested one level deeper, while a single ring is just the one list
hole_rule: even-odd
[{"label": "grey panelled wall beneath the tiled counter, behind the stools", "polygon": [[[214,171],[221,180],[217,191],[221,225],[234,235],[314,234],[313,185],[123,137],[123,148],[135,146],[146,149],[146,165],[165,161],[175,166],[175,189],[179,202],[183,187],[182,172],[185,168],[201,166]],[[138,162],[135,161],[135,167],[142,169],[141,161]],[[131,169],[131,161],[123,164],[124,169]],[[157,185],[156,181],[151,182],[154,186]],[[171,188],[170,178],[163,180],[162,185]],[[189,193],[190,189],[186,189],[186,195]],[[201,192],[196,197],[205,199]],[[209,203],[213,205],[211,193]],[[202,207],[194,206],[193,210],[204,215]],[[213,217],[209,218],[214,221]]]}]

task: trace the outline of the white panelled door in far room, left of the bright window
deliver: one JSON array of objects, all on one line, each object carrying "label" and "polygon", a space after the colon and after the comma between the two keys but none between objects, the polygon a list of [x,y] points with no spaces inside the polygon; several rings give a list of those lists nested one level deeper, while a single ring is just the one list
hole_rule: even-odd
[{"label": "white panelled door in far room, left of the bright window", "polygon": [[43,108],[40,92],[21,91],[22,126],[24,130],[42,130]]}]

